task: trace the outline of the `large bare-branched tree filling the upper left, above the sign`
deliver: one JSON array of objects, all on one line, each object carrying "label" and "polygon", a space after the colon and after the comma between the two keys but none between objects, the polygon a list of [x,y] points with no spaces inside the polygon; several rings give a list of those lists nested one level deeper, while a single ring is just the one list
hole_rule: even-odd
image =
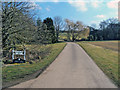
[{"label": "large bare-branched tree filling the upper left, above the sign", "polygon": [[3,48],[6,46],[11,48],[17,43],[29,43],[31,41],[32,33],[30,32],[35,29],[29,13],[31,7],[28,2],[2,3]]}]

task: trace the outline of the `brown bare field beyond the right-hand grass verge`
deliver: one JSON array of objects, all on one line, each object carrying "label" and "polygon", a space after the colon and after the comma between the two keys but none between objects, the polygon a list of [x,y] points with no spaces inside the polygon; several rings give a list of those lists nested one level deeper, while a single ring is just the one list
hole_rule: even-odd
[{"label": "brown bare field beyond the right-hand grass verge", "polygon": [[118,47],[118,45],[120,44],[120,41],[93,41],[88,43],[96,46],[100,46],[103,48],[120,51],[120,48]]}]

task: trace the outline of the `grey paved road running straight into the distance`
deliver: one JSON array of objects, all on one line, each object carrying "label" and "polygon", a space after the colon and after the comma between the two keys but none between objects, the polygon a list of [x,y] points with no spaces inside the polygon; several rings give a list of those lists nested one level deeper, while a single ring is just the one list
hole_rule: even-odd
[{"label": "grey paved road running straight into the distance", "polygon": [[116,86],[78,44],[68,43],[38,78],[12,88],[116,88]]}]

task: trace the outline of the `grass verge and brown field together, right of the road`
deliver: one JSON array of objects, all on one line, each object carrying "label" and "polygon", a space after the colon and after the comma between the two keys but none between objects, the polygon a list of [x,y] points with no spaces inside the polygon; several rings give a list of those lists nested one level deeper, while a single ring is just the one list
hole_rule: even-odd
[{"label": "grass verge and brown field together, right of the road", "polygon": [[[118,52],[117,41],[78,42],[101,70],[118,86]],[[116,50],[116,51],[115,51]],[[120,75],[119,75],[120,77]]]}]

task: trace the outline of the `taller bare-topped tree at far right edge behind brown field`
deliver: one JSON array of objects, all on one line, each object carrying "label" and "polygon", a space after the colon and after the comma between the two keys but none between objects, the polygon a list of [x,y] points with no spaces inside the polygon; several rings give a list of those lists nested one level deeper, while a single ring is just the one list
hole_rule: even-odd
[{"label": "taller bare-topped tree at far right edge behind brown field", "polygon": [[102,30],[103,40],[113,40],[118,36],[119,21],[116,18],[109,18],[100,23],[100,30]]}]

